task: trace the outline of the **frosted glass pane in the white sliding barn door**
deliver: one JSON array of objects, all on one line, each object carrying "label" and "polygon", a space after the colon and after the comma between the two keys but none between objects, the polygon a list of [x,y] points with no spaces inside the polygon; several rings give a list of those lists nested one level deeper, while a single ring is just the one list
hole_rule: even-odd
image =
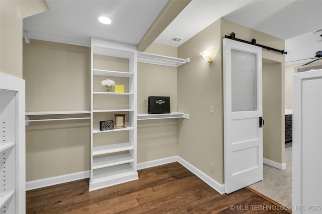
[{"label": "frosted glass pane in the white sliding barn door", "polygon": [[231,110],[257,110],[256,54],[231,49]]}]

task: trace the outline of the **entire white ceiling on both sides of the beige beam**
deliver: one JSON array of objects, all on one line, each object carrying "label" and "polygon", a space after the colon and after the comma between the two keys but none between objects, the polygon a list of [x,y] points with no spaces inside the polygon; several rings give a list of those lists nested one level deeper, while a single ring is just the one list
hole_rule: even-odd
[{"label": "entire white ceiling on both sides of the beige beam", "polygon": [[[28,37],[90,46],[90,37],[137,45],[167,1],[47,0],[46,3],[50,11],[24,19],[23,29],[28,31]],[[316,0],[192,0],[154,42],[178,47],[224,18],[286,40],[286,62],[313,58],[315,52],[322,50],[322,31],[312,33],[322,29],[321,11],[322,1]],[[112,19],[111,25],[97,22],[97,16],[102,14]],[[173,37],[182,40],[171,42]]]}]

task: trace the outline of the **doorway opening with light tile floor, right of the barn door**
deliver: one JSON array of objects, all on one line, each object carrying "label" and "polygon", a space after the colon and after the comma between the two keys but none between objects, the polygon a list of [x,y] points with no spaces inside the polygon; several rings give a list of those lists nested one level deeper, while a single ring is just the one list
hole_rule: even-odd
[{"label": "doorway opening with light tile floor, right of the barn door", "polygon": [[285,143],[282,137],[288,129],[285,129],[284,74],[281,71],[280,62],[263,59],[263,181],[250,187],[281,205],[291,207],[292,142]]}]

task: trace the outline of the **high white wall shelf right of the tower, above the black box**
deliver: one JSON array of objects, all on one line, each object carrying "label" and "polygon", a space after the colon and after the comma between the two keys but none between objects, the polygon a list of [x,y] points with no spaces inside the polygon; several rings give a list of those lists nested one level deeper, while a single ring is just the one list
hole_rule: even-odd
[{"label": "high white wall shelf right of the tower, above the black box", "polygon": [[137,52],[137,62],[178,67],[186,63],[189,63],[190,59],[180,59],[175,57],[167,57],[162,55]]}]

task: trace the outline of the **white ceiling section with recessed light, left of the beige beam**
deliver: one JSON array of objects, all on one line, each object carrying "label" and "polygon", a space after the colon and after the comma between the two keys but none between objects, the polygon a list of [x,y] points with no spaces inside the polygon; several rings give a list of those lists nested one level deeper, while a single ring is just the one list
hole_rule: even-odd
[{"label": "white ceiling section with recessed light, left of the beige beam", "polygon": [[[30,38],[91,46],[91,37],[136,45],[167,4],[164,0],[47,0],[49,11],[23,20]],[[112,24],[97,21],[105,15]],[[26,33],[24,33],[26,36]]]}]

